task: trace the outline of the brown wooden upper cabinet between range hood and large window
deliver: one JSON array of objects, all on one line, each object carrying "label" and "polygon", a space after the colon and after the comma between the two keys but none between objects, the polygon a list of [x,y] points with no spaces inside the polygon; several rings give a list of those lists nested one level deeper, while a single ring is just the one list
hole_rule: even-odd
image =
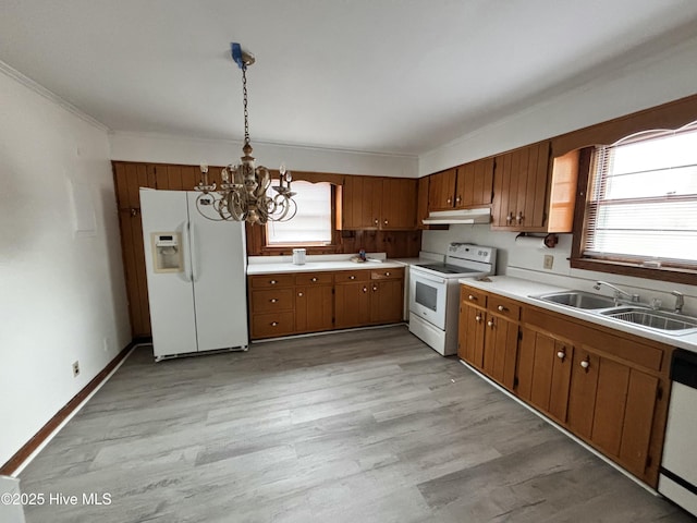
[{"label": "brown wooden upper cabinet between range hood and large window", "polygon": [[572,232],[578,151],[550,160],[550,143],[497,156],[491,228]]}]

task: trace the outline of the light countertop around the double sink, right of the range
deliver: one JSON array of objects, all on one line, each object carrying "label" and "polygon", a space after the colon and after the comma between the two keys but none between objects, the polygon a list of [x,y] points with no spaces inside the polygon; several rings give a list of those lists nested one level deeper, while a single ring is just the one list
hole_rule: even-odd
[{"label": "light countertop around the double sink, right of the range", "polygon": [[524,280],[521,278],[513,278],[510,276],[490,276],[490,281],[481,281],[463,278],[460,283],[480,289],[482,291],[492,292],[502,296],[511,297],[523,303],[528,303],[540,308],[553,311],[555,313],[562,313],[566,316],[583,319],[592,324],[610,327],[615,330],[627,332],[631,335],[640,336],[653,341],[665,343],[668,345],[680,346],[692,352],[697,352],[697,333],[685,336],[671,336],[662,332],[628,324],[617,319],[612,319],[600,314],[585,311],[582,308],[567,307],[555,303],[545,302],[529,297],[530,295],[545,294],[548,292],[567,291],[570,288],[553,287],[546,283],[538,283],[536,281]]}]

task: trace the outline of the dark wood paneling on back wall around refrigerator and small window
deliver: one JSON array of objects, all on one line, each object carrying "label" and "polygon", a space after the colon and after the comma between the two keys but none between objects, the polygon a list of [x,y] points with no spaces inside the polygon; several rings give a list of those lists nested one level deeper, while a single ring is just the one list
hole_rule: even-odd
[{"label": "dark wood paneling on back wall around refrigerator and small window", "polygon": [[[150,331],[150,311],[145,271],[145,246],[140,220],[140,187],[170,191],[191,191],[200,179],[198,166],[113,161],[113,177],[121,228],[121,248],[129,295],[131,331],[134,339],[147,338]],[[210,181],[220,183],[221,167],[210,167]],[[278,175],[277,172],[273,173]],[[293,172],[296,180],[343,183],[344,174]],[[266,230],[247,226],[249,255],[292,254],[291,248],[266,248]],[[420,231],[334,231],[333,245],[308,248],[309,254],[353,254],[360,248],[384,252],[389,257],[415,257],[421,246]]]}]

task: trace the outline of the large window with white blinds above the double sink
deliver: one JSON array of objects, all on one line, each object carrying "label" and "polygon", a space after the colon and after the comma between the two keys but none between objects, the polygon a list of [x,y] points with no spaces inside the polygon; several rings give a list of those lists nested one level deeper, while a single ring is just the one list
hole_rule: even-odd
[{"label": "large window with white blinds above the double sink", "polygon": [[697,268],[697,125],[596,149],[585,257]]}]

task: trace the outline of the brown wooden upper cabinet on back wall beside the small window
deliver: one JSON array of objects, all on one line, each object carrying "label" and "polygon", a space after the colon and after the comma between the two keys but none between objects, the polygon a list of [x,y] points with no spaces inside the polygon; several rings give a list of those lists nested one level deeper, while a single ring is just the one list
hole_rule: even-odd
[{"label": "brown wooden upper cabinet on back wall beside the small window", "polygon": [[346,175],[341,187],[337,229],[416,229],[417,183],[407,178]]}]

